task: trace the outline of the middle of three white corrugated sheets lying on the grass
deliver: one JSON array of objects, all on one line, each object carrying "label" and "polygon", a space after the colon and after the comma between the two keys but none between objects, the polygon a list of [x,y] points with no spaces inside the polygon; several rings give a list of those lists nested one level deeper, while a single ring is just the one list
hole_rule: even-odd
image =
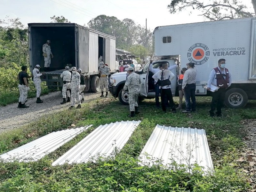
[{"label": "middle of three white corrugated sheets lying on the grass", "polygon": [[115,148],[123,148],[140,121],[122,121],[100,125],[52,165],[82,163],[111,155]]}]

